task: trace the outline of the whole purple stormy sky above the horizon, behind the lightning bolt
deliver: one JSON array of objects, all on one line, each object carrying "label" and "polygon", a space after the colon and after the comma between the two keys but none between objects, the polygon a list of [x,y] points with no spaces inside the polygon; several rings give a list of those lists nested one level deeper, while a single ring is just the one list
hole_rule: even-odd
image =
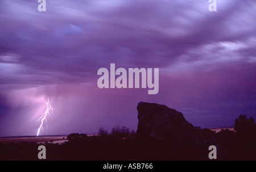
[{"label": "whole purple stormy sky above the horizon, behind the lightning bolt", "polygon": [[[256,2],[0,2],[0,136],[136,131],[138,102],[165,104],[195,126],[256,120]],[[97,70],[159,68],[159,93],[99,89]]]}]

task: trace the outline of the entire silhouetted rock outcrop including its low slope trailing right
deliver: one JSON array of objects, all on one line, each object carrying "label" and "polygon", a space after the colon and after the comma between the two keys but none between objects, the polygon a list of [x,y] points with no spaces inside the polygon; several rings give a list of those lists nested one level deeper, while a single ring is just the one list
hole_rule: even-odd
[{"label": "entire silhouetted rock outcrop including its low slope trailing right", "polygon": [[[206,160],[208,159],[209,146],[214,145],[217,149],[219,147],[214,132],[209,129],[193,127],[191,123],[185,120],[181,112],[165,105],[145,102],[138,103],[137,110],[138,139],[154,139],[171,143],[174,146],[183,145],[184,150],[193,149],[199,154],[199,157],[204,157]],[[218,159],[220,158],[221,156],[218,155]]]}]

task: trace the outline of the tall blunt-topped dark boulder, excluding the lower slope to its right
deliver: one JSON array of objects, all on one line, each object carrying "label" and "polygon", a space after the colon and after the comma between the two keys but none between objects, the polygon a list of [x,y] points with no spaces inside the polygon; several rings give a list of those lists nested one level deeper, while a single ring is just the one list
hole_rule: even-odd
[{"label": "tall blunt-topped dark boulder, excluding the lower slope to its right", "polygon": [[140,102],[138,110],[138,137],[166,139],[167,135],[182,133],[188,135],[193,125],[185,120],[183,114],[167,106]]}]

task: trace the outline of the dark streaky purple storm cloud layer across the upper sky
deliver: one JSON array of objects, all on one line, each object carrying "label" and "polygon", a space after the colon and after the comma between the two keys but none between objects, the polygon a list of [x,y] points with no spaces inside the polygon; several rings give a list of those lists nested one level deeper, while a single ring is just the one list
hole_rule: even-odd
[{"label": "dark streaky purple storm cloud layer across the upper sky", "polygon": [[[12,68],[13,77],[1,78],[5,84],[82,82],[110,62],[161,68],[205,44],[248,45],[255,35],[249,2],[220,2],[213,14],[204,1],[53,1],[42,14],[34,2],[2,1],[1,66]],[[245,48],[241,58],[254,53]],[[188,56],[194,62],[209,54]]]}]

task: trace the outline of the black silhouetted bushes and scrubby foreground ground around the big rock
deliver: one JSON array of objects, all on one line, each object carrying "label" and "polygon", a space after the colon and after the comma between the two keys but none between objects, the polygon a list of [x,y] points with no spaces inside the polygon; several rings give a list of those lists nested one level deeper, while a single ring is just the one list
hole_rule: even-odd
[{"label": "black silhouetted bushes and scrubby foreground ground around the big rock", "polygon": [[[218,160],[256,160],[256,124],[253,118],[240,115],[234,130],[214,133],[219,142]],[[100,128],[97,136],[72,133],[64,144],[45,142],[46,160],[209,160],[209,150],[200,154],[200,146],[175,139],[140,139],[126,127],[110,133]],[[38,160],[35,142],[0,143],[0,160]],[[199,153],[200,152],[200,153]]]}]

